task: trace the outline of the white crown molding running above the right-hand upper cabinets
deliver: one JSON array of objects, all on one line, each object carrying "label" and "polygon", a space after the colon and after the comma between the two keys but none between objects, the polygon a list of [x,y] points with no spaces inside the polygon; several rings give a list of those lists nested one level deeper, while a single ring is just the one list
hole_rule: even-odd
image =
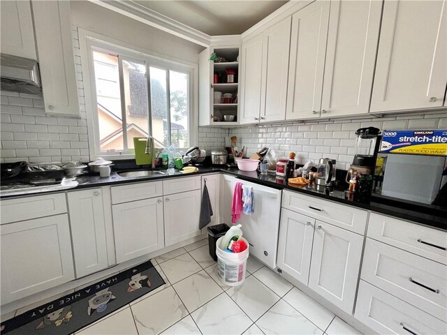
[{"label": "white crown molding running above the right-hand upper cabinets", "polygon": [[309,3],[315,0],[290,0],[283,6],[279,7],[272,14],[256,23],[253,27],[247,29],[241,34],[242,40],[247,40],[259,34],[261,31],[271,27],[273,24],[284,20],[286,17],[293,15],[298,10],[305,8]]}]

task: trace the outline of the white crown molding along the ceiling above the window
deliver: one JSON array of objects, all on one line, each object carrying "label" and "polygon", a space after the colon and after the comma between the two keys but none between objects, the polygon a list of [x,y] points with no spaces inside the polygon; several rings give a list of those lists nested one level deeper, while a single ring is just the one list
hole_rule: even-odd
[{"label": "white crown molding along the ceiling above the window", "polygon": [[117,1],[117,0],[89,0],[91,3],[113,10],[119,14],[131,17],[134,20],[152,26],[156,29],[166,31],[184,40],[209,47],[211,43],[211,36],[193,29],[186,24],[182,24],[176,20],[171,19],[154,10],[141,6],[133,1]]}]

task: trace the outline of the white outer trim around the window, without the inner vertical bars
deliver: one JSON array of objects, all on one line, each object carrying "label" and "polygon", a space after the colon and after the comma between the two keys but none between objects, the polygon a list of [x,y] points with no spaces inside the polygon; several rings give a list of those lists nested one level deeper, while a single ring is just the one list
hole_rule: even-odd
[{"label": "white outer trim around the window, without the inner vertical bars", "polygon": [[94,77],[94,61],[91,54],[91,45],[95,47],[103,47],[105,50],[117,50],[125,54],[130,58],[144,57],[154,61],[154,64],[160,66],[168,66],[171,70],[178,70],[180,72],[189,72],[191,95],[189,96],[189,139],[190,147],[194,147],[198,144],[198,64],[194,64],[182,59],[177,59],[172,56],[159,54],[150,50],[145,50],[142,47],[131,45],[129,43],[122,42],[121,40],[115,40],[102,34],[97,34],[91,31],[87,31],[82,28],[78,28],[79,43],[80,43],[80,57],[82,68],[82,81],[85,91],[85,112],[87,114],[87,131],[89,134],[89,155],[90,160],[98,158],[99,156],[112,159],[133,159],[133,154],[103,154],[100,151],[99,145],[99,126],[97,117],[97,104],[96,104],[96,89],[95,77]]}]

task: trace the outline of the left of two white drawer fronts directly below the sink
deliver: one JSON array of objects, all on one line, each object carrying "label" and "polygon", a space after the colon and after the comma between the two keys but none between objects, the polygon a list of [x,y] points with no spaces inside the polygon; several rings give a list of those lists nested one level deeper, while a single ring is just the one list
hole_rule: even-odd
[{"label": "left of two white drawer fronts directly below the sink", "polygon": [[129,184],[113,186],[112,204],[160,197],[163,195],[163,184],[161,181],[150,181],[149,183]]}]

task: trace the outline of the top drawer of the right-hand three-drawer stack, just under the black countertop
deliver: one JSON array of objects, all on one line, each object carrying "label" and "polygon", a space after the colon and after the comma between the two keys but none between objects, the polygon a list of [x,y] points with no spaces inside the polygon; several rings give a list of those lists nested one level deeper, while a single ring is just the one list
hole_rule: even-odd
[{"label": "top drawer of the right-hand three-drawer stack, just under the black countertop", "polygon": [[371,213],[367,236],[447,265],[447,232]]}]

